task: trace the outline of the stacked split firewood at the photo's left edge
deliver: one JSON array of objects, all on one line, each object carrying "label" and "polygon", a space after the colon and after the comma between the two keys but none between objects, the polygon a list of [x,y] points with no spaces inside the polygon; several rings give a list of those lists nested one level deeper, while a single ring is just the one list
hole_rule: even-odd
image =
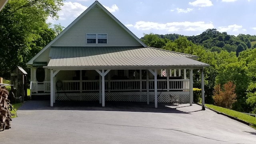
[{"label": "stacked split firewood at the photo's left edge", "polygon": [[10,121],[11,113],[8,108],[10,105],[10,100],[8,98],[8,90],[0,87],[0,131],[11,128]]}]

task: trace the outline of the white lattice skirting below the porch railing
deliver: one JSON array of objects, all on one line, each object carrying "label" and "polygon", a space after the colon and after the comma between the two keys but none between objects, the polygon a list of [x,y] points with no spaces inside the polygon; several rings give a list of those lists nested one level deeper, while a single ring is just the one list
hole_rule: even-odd
[{"label": "white lattice skirting below the porch railing", "polygon": [[[179,98],[180,103],[190,102],[189,92],[158,92],[158,102],[170,102],[170,94]],[[56,100],[99,100],[98,92],[56,93]],[[106,101],[147,102],[147,92],[105,92]],[[154,102],[154,92],[149,92],[149,101]]]}]

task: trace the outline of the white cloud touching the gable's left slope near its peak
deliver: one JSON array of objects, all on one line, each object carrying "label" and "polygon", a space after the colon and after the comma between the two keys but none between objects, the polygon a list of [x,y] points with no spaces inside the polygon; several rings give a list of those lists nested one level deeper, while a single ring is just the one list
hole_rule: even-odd
[{"label": "white cloud touching the gable's left slope near its peak", "polygon": [[65,20],[69,17],[77,18],[86,9],[86,6],[83,6],[82,4],[77,2],[64,2],[64,5],[61,7],[61,10],[60,12],[58,12],[58,14],[60,16],[60,20]]}]

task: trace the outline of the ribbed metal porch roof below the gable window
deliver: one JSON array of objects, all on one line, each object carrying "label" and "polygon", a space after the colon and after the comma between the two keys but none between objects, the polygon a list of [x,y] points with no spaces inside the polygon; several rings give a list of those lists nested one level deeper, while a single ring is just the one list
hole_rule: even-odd
[{"label": "ribbed metal porch roof below the gable window", "polygon": [[51,47],[49,68],[205,67],[193,55],[144,47]]}]

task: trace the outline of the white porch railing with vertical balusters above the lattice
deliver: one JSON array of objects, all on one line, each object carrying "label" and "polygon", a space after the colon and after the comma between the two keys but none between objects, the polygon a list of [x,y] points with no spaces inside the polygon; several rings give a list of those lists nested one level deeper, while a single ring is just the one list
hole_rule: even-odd
[{"label": "white porch railing with vertical balusters above the lattice", "polygon": [[[98,91],[99,80],[63,80],[62,85],[56,88],[60,92]],[[105,90],[108,91],[145,91],[146,80],[105,80]],[[149,90],[154,90],[154,80],[148,80]],[[169,85],[169,87],[168,87]],[[31,92],[50,92],[50,81],[30,82]],[[157,80],[158,90],[189,90],[189,79]]]}]

